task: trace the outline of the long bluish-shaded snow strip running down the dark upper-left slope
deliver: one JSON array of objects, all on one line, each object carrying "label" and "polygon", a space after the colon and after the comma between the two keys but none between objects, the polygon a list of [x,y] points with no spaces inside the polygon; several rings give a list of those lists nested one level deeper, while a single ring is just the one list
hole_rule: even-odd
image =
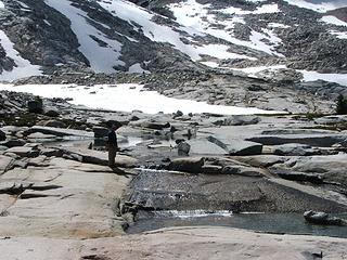
[{"label": "long bluish-shaded snow strip running down the dark upper-left slope", "polygon": [[[107,38],[88,23],[88,14],[82,10],[72,5],[68,0],[44,0],[48,5],[61,12],[72,22],[72,29],[75,32],[80,47],[78,50],[88,58],[91,68],[97,73],[114,73],[114,66],[125,65],[119,61],[121,43]],[[105,42],[106,47],[101,47],[90,36]]]}]

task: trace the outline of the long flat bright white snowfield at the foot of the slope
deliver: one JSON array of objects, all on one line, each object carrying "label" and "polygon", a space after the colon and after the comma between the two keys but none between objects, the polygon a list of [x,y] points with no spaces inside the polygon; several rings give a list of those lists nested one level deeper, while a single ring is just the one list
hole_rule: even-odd
[{"label": "long flat bright white snowfield at the foot of the slope", "polygon": [[[158,112],[174,113],[215,113],[223,115],[273,114],[278,112],[262,110],[253,107],[208,105],[205,102],[178,100],[160,95],[155,91],[142,91],[140,84],[85,86],[73,87],[62,84],[0,84],[0,90],[28,92],[43,98],[73,98],[73,104],[81,104],[92,108],[132,112],[134,109],[149,114]],[[95,94],[90,92],[95,91]]]}]

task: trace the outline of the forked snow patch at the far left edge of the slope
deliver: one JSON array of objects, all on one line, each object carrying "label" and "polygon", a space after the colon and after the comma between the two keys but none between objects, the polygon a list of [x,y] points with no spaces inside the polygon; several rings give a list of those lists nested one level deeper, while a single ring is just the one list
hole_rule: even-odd
[{"label": "forked snow patch at the far left edge of the slope", "polygon": [[0,81],[12,81],[29,76],[42,75],[40,66],[33,65],[29,61],[24,60],[14,49],[14,43],[2,30],[0,30],[0,44],[5,50],[7,56],[11,57],[16,64],[16,67],[14,67],[11,72],[3,70],[2,74],[0,74]]}]

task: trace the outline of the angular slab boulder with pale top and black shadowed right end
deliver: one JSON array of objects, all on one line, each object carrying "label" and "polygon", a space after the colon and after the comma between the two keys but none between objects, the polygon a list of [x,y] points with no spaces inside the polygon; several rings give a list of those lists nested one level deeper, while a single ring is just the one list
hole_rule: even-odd
[{"label": "angular slab boulder with pale top and black shadowed right end", "polygon": [[208,136],[207,140],[223,148],[229,155],[260,155],[262,152],[262,144],[218,136]]}]

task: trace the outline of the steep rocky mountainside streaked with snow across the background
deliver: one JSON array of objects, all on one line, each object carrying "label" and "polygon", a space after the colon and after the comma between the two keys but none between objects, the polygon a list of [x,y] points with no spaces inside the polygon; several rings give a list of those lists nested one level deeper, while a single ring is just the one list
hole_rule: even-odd
[{"label": "steep rocky mountainside streaked with snow across the background", "polygon": [[284,0],[2,0],[1,78],[64,67],[146,73],[203,69],[202,64],[345,73],[347,32],[336,18],[344,18],[344,9],[317,11],[316,5]]}]

